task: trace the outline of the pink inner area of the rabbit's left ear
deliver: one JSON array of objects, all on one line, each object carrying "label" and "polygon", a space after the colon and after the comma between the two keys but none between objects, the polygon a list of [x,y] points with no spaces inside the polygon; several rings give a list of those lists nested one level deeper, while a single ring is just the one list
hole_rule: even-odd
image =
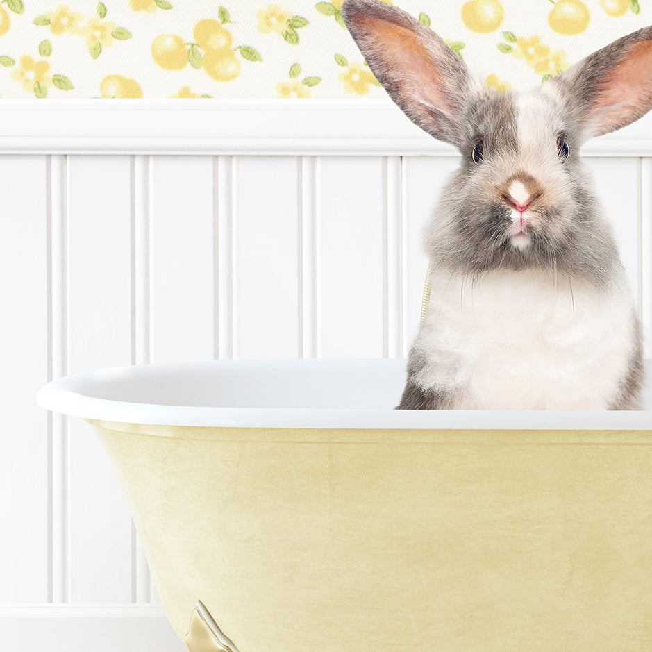
[{"label": "pink inner area of the rabbit's left ear", "polygon": [[451,107],[444,94],[444,78],[429,53],[435,42],[424,44],[421,35],[409,28],[373,17],[360,17],[362,31],[374,55],[385,62],[389,78],[394,75],[410,99],[426,101],[444,113]]}]

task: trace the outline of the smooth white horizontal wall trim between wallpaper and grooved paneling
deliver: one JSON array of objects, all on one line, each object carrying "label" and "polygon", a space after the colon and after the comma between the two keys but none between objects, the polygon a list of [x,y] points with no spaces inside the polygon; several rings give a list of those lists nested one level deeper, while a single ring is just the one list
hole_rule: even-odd
[{"label": "smooth white horizontal wall trim between wallpaper and grooved paneling", "polygon": [[[0,153],[455,155],[389,99],[2,99]],[[652,116],[588,142],[652,156]]]}]

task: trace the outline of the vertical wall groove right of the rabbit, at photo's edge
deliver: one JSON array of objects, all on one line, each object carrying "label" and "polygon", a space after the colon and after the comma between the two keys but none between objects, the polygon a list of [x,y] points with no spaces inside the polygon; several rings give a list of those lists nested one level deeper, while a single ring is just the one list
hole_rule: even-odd
[{"label": "vertical wall groove right of the rabbit, at photo's edge", "polygon": [[640,311],[643,324],[644,354],[652,357],[652,158],[642,158],[640,174]]}]

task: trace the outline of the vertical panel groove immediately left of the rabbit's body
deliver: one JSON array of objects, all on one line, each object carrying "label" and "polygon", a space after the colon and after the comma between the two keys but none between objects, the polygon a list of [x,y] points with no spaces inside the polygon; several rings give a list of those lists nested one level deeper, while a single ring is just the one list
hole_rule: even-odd
[{"label": "vertical panel groove immediately left of the rabbit's body", "polygon": [[403,349],[402,237],[401,210],[402,160],[383,158],[383,356],[399,358]]}]

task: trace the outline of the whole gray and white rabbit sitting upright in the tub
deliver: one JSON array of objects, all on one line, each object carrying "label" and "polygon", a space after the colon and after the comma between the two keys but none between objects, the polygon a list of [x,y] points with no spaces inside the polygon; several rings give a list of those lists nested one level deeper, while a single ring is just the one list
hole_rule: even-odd
[{"label": "whole gray and white rabbit sitting upright in the tub", "polygon": [[640,409],[641,327],[579,150],[652,107],[652,27],[517,94],[395,6],[342,15],[394,102],[462,156],[424,229],[431,299],[397,409]]}]

